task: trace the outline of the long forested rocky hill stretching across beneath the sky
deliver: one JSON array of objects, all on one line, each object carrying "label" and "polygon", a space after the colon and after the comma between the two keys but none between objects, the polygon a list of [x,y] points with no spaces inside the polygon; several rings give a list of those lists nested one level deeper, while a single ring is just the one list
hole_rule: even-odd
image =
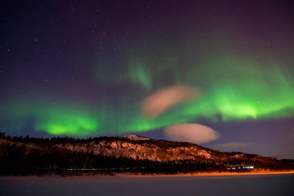
[{"label": "long forested rocky hill stretching across beneath the sky", "polygon": [[[249,167],[290,170],[294,166],[291,160],[243,152],[222,152],[188,142],[154,140],[136,135],[49,139],[28,136],[11,138],[2,133],[0,138],[1,168],[10,168],[11,171],[18,168],[23,173],[40,168],[54,172],[129,170],[174,173],[227,171],[232,168],[245,171]],[[11,174],[6,169],[0,170],[0,174]]]}]

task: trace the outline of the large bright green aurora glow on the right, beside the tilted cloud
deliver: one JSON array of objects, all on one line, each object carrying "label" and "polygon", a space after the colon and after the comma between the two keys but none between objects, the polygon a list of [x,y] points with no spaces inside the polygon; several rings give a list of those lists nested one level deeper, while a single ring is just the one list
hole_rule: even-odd
[{"label": "large bright green aurora glow on the right, beside the tilted cloud", "polygon": [[263,70],[257,63],[239,59],[215,59],[208,65],[211,69],[201,73],[210,86],[199,101],[183,107],[182,114],[221,114],[223,121],[293,114],[293,78],[285,76],[273,63]]}]

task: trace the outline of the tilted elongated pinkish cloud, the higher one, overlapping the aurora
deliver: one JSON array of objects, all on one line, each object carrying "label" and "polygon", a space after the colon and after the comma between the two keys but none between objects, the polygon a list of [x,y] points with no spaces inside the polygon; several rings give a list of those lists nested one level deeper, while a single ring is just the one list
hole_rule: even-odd
[{"label": "tilted elongated pinkish cloud, the higher one, overlapping the aurora", "polygon": [[197,89],[184,85],[162,88],[141,102],[142,112],[148,118],[154,119],[173,105],[195,100],[198,95]]}]

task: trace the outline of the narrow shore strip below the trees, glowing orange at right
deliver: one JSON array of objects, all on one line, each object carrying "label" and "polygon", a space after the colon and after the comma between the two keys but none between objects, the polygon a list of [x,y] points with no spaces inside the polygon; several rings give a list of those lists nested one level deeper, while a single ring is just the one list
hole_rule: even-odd
[{"label": "narrow shore strip below the trees, glowing orange at right", "polygon": [[215,176],[248,176],[248,175],[279,175],[279,174],[294,174],[294,171],[289,172],[227,172],[227,173],[187,173],[187,174],[132,174],[132,173],[116,173],[115,175],[93,175],[93,176],[59,176],[59,175],[29,175],[29,176],[0,176],[1,179],[45,179],[45,178],[62,178],[62,179],[73,179],[73,178],[170,178],[170,177],[215,177]]}]

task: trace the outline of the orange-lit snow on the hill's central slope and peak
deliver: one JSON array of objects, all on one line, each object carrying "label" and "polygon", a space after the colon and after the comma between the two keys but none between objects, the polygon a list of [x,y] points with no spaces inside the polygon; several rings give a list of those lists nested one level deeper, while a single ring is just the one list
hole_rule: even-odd
[{"label": "orange-lit snow on the hill's central slope and peak", "polygon": [[[134,139],[144,139],[145,137],[128,135],[130,138]],[[147,138],[151,140],[150,138]],[[211,152],[202,149],[199,146],[191,147],[172,147],[172,148],[163,148],[158,147],[153,144],[135,144],[131,142],[124,141],[99,141],[97,144],[92,142],[89,144],[66,144],[58,145],[60,148],[65,148],[68,150],[74,150],[76,152],[82,151],[92,151],[94,154],[107,154],[126,156],[136,158],[139,156],[140,159],[149,159],[149,160],[158,160],[158,161],[168,161],[168,160],[183,160],[183,159],[195,159],[198,158],[207,158],[213,159],[216,158],[216,155]],[[143,156],[144,155],[144,156]]]}]

